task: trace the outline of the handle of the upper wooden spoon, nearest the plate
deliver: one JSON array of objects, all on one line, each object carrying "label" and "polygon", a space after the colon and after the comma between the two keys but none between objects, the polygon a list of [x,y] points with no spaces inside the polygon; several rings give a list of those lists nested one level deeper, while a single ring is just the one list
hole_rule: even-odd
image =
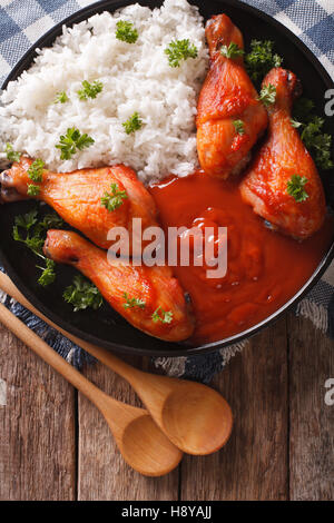
[{"label": "handle of the upper wooden spoon, nearest the plate", "polygon": [[131,385],[135,385],[135,383],[137,383],[137,377],[143,375],[141,371],[131,367],[127,363],[114,356],[114,354],[111,354],[109,351],[106,351],[102,347],[98,347],[97,345],[92,345],[91,343],[85,342],[84,339],[73,336],[63,328],[56,325],[51,319],[47,318],[42,313],[40,313],[36,307],[33,307],[33,305],[28,302],[28,299],[22,295],[22,293],[20,293],[20,290],[14,286],[11,279],[2,272],[0,272],[0,288],[4,290],[4,293],[7,293],[8,295],[12,296],[21,305],[23,305],[23,307],[28,308],[36,316],[46,322],[48,325],[63,334],[76,345],[79,345],[81,348],[84,348],[89,354],[99,359],[101,363],[104,363],[107,367],[111,368],[117,374],[122,376]]}]

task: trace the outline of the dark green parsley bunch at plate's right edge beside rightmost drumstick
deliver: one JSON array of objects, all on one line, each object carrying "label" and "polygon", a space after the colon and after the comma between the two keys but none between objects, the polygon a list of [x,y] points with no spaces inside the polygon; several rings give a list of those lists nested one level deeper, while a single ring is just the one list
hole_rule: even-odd
[{"label": "dark green parsley bunch at plate's right edge beside rightmost drumstick", "polygon": [[[294,106],[293,125],[301,130],[305,147],[314,156],[316,166],[322,170],[334,167],[332,160],[332,136],[323,132],[325,120],[314,112],[314,103],[308,98],[301,98]],[[296,126],[297,124],[297,126]]]}]

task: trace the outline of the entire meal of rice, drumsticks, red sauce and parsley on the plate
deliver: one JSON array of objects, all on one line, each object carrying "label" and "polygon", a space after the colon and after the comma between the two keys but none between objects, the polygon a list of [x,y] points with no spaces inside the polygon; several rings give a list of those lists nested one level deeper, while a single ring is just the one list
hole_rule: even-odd
[{"label": "entire meal of rice, drumsticks, red sauce and parsley on the plate", "polygon": [[292,114],[298,81],[282,63],[271,40],[245,52],[226,14],[205,29],[186,0],[96,14],[38,50],[0,96],[0,203],[35,200],[12,238],[42,292],[57,302],[57,264],[70,265],[66,307],[105,298],[138,329],[195,345],[286,304],[333,240],[316,170],[333,160],[312,102]]}]

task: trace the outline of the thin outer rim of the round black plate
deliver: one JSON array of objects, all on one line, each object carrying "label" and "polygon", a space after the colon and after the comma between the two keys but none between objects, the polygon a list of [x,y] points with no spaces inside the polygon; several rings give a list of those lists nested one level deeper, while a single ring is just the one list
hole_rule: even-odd
[{"label": "thin outer rim of the round black plate", "polygon": [[[204,0],[198,0],[198,1],[188,0],[188,1],[191,4],[197,6],[199,10],[202,7],[203,8],[205,6],[207,7],[207,2],[205,2]],[[216,1],[218,3],[222,3],[222,10],[224,9],[224,4],[233,7],[233,8],[242,9],[246,12],[247,11],[252,12],[257,18],[268,22],[268,24],[275,26],[278,31],[283,32],[283,34],[286,36],[293,42],[293,45],[299,49],[299,51],[305,56],[306,60],[312,62],[317,73],[322,77],[322,80],[326,85],[327,89],[334,88],[334,81],[332,80],[330,73],[326,71],[325,67],[321,63],[318,58],[311,51],[311,49],[307,48],[307,46],[296,34],[294,34],[291,31],[291,29],[288,29],[282,22],[279,22],[272,16],[265,13],[264,11],[259,10],[258,8],[249,6],[240,0],[216,0]],[[30,66],[35,57],[37,56],[37,49],[45,47],[45,41],[50,39],[50,37],[53,37],[53,40],[55,40],[57,36],[61,33],[62,26],[72,26],[73,23],[79,23],[80,21],[84,21],[85,19],[94,16],[95,13],[104,9],[108,10],[109,12],[114,12],[117,9],[121,9],[132,3],[140,3],[140,0],[137,0],[137,2],[134,2],[131,0],[100,0],[90,6],[84,7],[79,9],[78,11],[76,11],[75,13],[66,17],[63,20],[52,26],[35,43],[30,46],[30,48],[23,53],[21,59],[11,69],[11,71],[4,79],[1,86],[1,89],[6,89],[9,81],[11,81],[14,77],[18,77],[19,75],[21,75],[23,70],[27,70],[26,62],[29,60],[29,66]],[[163,2],[160,1],[160,3]],[[7,259],[2,250],[2,247],[0,246],[0,260],[7,274],[11,278],[11,280],[19,288],[19,290],[23,294],[23,296],[32,305],[36,306],[38,310],[40,310],[47,318],[56,323],[59,327],[69,332],[73,336],[77,336],[91,344],[100,345],[101,347],[107,348],[109,351],[115,351],[117,353],[121,353],[125,355],[130,354],[130,355],[138,355],[138,356],[155,356],[155,357],[158,357],[158,356],[179,357],[179,356],[194,356],[198,354],[208,354],[208,353],[216,352],[218,349],[222,349],[230,345],[240,344],[242,342],[249,339],[263,328],[268,327],[273,325],[274,323],[276,323],[283,316],[283,314],[291,310],[294,305],[296,305],[306,294],[308,294],[310,290],[321,279],[322,275],[325,273],[326,268],[330,266],[333,259],[334,259],[334,239],[332,240],[332,245],[330,246],[326,254],[323,256],[318,266],[316,267],[314,273],[311,275],[311,277],[307,279],[307,282],[305,282],[305,284],[301,287],[301,289],[297,293],[295,293],[294,296],[292,296],[292,298],[288,302],[286,302],[282,307],[279,307],[275,313],[273,313],[272,315],[269,315],[262,322],[257,323],[253,327],[249,327],[248,329],[243,330],[233,336],[229,336],[227,338],[208,343],[208,344],[204,344],[204,345],[199,345],[197,347],[178,344],[178,345],[174,345],[173,348],[170,349],[155,351],[155,349],[145,348],[145,347],[137,348],[132,346],[130,347],[126,345],[119,345],[114,342],[109,342],[109,341],[107,342],[107,341],[100,339],[95,335],[82,332],[80,328],[72,325],[70,322],[67,322],[62,319],[61,317],[59,317],[58,314],[53,313],[49,307],[45,306],[45,304],[40,302],[40,299],[33,294],[33,292],[31,292],[26,286],[22,278],[12,268],[11,264],[9,263],[9,260]],[[177,346],[179,346],[179,348],[177,348]]]}]

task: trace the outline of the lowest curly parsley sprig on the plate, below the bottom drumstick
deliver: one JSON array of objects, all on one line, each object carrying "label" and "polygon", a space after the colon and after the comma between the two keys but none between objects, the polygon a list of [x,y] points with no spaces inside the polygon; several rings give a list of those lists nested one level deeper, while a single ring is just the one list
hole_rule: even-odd
[{"label": "lowest curly parsley sprig on the plate, below the bottom drumstick", "polygon": [[73,306],[75,313],[91,307],[97,310],[104,303],[104,298],[99,289],[81,275],[73,277],[72,285],[66,287],[63,299]]}]

